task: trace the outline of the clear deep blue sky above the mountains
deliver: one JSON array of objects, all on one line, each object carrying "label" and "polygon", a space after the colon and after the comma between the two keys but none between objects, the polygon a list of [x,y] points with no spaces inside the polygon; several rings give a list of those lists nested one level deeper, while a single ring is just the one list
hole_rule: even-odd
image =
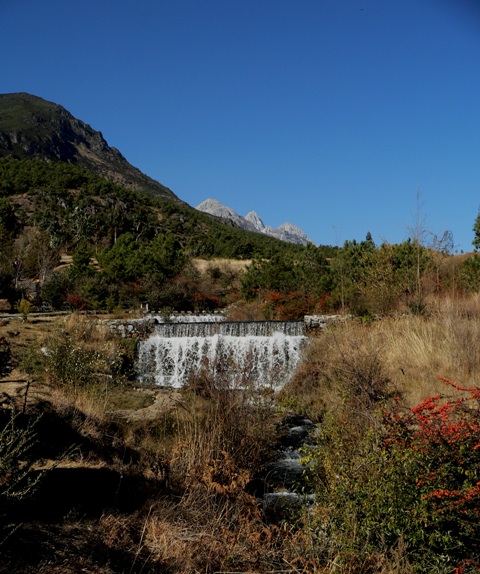
[{"label": "clear deep blue sky above the mountains", "polygon": [[471,250],[478,0],[0,0],[0,92],[100,130],[192,206],[316,243]]}]

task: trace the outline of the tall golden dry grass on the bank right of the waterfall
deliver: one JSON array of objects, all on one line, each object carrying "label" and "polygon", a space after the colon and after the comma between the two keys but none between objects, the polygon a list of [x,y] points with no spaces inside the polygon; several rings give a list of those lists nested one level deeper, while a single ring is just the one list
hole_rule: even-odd
[{"label": "tall golden dry grass on the bank right of the waterfall", "polygon": [[352,320],[320,333],[283,399],[320,418],[362,385],[400,394],[408,407],[443,393],[438,377],[478,385],[480,296],[437,299],[429,309],[427,315]]}]

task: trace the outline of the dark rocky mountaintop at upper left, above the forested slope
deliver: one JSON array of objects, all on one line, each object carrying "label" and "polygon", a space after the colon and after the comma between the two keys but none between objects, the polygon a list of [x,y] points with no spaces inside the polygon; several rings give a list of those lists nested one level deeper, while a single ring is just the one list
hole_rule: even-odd
[{"label": "dark rocky mountaintop at upper left, above the forested slope", "polygon": [[128,189],[180,202],[110,147],[101,132],[30,94],[0,94],[0,157],[76,164]]}]

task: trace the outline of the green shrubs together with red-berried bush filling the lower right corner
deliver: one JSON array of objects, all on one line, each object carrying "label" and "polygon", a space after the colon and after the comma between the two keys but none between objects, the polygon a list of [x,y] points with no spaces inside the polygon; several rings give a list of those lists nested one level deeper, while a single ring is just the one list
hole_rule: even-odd
[{"label": "green shrubs together with red-berried bush filling the lower right corner", "polygon": [[479,571],[480,389],[445,382],[465,396],[406,413],[397,399],[368,429],[345,410],[325,420],[310,526],[320,563],[377,572],[372,557],[402,546],[415,572]]}]

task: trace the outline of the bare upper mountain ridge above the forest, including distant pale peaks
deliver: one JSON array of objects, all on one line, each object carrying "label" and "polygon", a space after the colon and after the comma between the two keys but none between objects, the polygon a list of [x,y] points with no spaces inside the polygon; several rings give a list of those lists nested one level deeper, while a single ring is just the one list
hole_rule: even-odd
[{"label": "bare upper mountain ridge above the forest, including distant pale peaks", "polygon": [[[117,148],[108,144],[102,132],[63,106],[26,92],[0,94],[0,158],[70,164],[141,195],[191,210],[192,214],[201,211],[222,226],[297,245],[311,243],[293,224],[284,223],[273,229],[254,211],[241,217],[219,202],[214,208],[195,210],[173,191],[132,166]],[[177,217],[185,226],[187,214]]]}]

